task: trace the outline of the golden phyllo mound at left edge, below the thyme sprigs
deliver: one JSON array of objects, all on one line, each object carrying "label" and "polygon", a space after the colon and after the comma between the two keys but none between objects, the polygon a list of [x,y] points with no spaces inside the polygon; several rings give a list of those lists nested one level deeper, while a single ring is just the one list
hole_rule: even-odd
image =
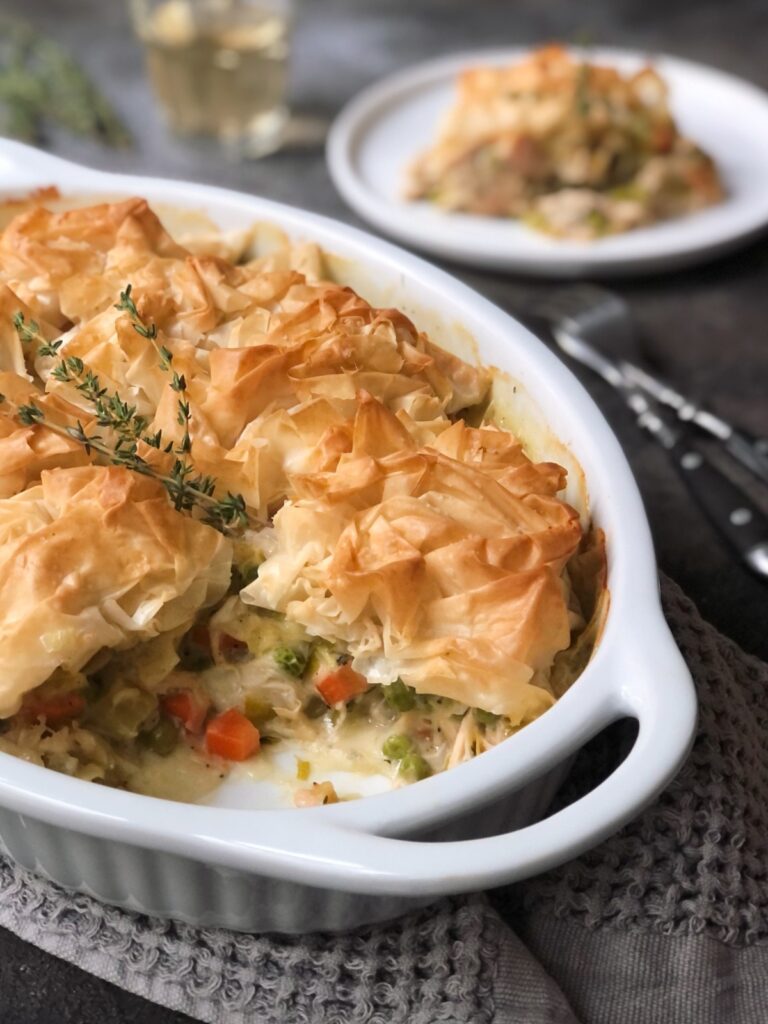
[{"label": "golden phyllo mound at left edge, below the thyme sprigs", "polygon": [[229,586],[229,542],[116,466],[47,469],[0,501],[0,712],[66,666],[186,625]]}]

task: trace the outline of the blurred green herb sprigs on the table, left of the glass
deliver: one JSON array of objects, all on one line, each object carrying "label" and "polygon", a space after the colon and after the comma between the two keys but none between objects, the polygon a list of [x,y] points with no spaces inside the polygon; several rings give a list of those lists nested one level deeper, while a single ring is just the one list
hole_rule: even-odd
[{"label": "blurred green herb sprigs on the table, left of the glass", "polygon": [[51,128],[115,147],[131,136],[108,99],[57,42],[0,16],[0,133],[44,144]]}]

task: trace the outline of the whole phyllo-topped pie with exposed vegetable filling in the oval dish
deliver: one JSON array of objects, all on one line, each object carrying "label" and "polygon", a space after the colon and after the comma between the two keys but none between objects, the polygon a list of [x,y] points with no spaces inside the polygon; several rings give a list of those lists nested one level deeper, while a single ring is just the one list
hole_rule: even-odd
[{"label": "whole phyllo-topped pie with exposed vegetable filling in the oval dish", "polygon": [[298,741],[306,804],[331,751],[409,781],[531,721],[602,584],[487,372],[248,246],[140,199],[0,236],[0,749],[187,799]]}]

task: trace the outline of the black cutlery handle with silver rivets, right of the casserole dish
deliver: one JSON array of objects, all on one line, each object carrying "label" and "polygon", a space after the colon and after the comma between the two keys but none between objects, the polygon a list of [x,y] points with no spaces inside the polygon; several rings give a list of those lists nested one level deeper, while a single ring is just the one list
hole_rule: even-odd
[{"label": "black cutlery handle with silver rivets, right of the casserole dish", "polygon": [[690,438],[669,451],[712,524],[753,572],[768,580],[768,516]]}]

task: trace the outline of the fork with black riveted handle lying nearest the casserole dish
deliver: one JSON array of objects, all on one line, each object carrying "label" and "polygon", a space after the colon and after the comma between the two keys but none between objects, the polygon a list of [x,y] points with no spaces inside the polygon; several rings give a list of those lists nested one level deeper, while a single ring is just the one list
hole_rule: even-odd
[{"label": "fork with black riveted handle lying nearest the casserole dish", "polygon": [[668,452],[721,537],[753,572],[768,580],[768,516],[696,443],[689,422],[674,416],[633,380],[623,361],[606,354],[606,350],[612,353],[616,335],[632,330],[627,306],[614,299],[603,289],[575,286],[552,293],[531,312],[546,321],[562,352],[599,374],[622,394],[638,425]]}]

